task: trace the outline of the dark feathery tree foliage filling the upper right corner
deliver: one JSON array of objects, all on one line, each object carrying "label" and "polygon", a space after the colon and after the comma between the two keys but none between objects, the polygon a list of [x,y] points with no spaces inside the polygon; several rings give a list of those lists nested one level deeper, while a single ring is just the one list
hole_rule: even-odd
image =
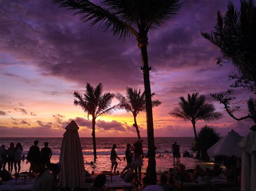
[{"label": "dark feathery tree foliage filling the upper right corner", "polygon": [[241,77],[231,75],[231,79],[236,79],[235,86],[256,92],[256,6],[253,0],[241,0],[240,4],[239,11],[229,2],[224,17],[218,11],[214,31],[201,34],[220,48],[217,63],[232,61],[238,68]]}]

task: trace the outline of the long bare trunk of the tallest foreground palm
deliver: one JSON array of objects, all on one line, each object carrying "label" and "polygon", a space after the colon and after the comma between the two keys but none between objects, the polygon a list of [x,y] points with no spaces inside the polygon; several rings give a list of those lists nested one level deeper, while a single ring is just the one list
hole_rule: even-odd
[{"label": "long bare trunk of the tallest foreground palm", "polygon": [[147,37],[138,39],[138,46],[142,53],[143,62],[143,77],[144,77],[144,88],[146,98],[146,118],[147,118],[147,145],[148,145],[148,157],[149,163],[147,165],[147,175],[150,176],[152,183],[157,183],[156,173],[156,146],[154,146],[154,129],[153,129],[153,113],[152,113],[152,100],[151,100],[151,89],[150,89],[150,68],[147,60]]}]

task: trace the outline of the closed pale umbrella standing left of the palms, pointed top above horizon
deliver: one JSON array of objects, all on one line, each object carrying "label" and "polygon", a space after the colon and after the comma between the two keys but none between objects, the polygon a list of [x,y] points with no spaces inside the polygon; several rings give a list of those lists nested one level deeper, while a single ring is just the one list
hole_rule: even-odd
[{"label": "closed pale umbrella standing left of the palms, pointed top above horizon", "polygon": [[59,186],[76,188],[85,185],[85,169],[82,146],[78,135],[79,127],[72,121],[66,126],[60,148]]}]

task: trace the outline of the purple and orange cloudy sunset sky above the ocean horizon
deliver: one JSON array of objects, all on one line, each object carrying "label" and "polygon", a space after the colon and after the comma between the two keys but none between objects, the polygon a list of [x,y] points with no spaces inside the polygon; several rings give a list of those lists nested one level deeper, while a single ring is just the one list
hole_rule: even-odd
[{"label": "purple and orange cloudy sunset sky above the ocean horizon", "polygon": [[[233,1],[239,6],[240,1]],[[200,31],[210,32],[217,11],[226,11],[228,1],[187,0],[179,14],[149,33],[151,90],[162,104],[153,108],[156,137],[193,136],[192,124],[170,117],[179,96],[204,94],[225,118],[198,122],[197,131],[207,124],[221,136],[231,129],[246,135],[251,119],[234,121],[223,105],[211,98],[229,88],[228,74],[236,72],[231,63],[216,64],[219,49],[205,40]],[[73,105],[73,92],[83,93],[86,82],[103,83],[104,91],[125,94],[125,88],[142,88],[140,50],[134,37],[125,41],[90,27],[58,8],[51,0],[0,1],[0,137],[61,137],[74,119],[80,137],[91,137],[91,121]],[[238,90],[246,103],[252,95]],[[113,104],[118,103],[113,100]],[[236,116],[247,114],[246,105]],[[146,136],[145,113],[138,116]],[[96,137],[135,137],[133,117],[117,110],[98,118]]]}]

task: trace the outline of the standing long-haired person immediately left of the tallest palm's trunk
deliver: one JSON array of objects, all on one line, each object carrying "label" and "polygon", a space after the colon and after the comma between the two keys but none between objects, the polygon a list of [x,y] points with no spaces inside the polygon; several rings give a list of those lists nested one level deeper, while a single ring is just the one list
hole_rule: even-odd
[{"label": "standing long-haired person immediately left of the tallest palm's trunk", "polygon": [[133,144],[131,151],[133,152],[133,168],[135,172],[135,178],[137,182],[137,186],[141,185],[140,179],[142,178],[142,166],[143,166],[143,148],[142,148],[142,142],[139,140]]}]

